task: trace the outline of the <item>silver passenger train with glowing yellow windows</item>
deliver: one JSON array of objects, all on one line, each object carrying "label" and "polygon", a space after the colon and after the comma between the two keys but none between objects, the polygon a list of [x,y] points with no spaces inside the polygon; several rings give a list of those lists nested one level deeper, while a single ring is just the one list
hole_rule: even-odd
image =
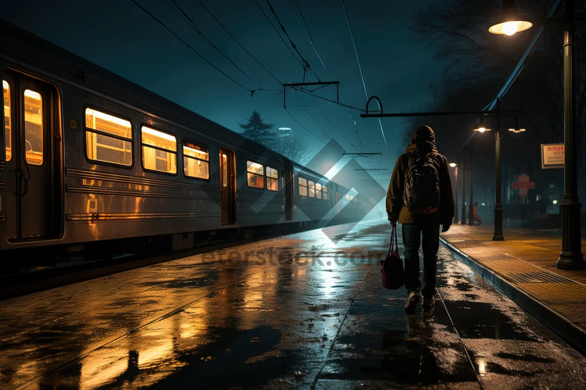
[{"label": "silver passenger train with glowing yellow windows", "polygon": [[309,229],[342,207],[336,223],[370,209],[317,172],[4,20],[0,70],[1,250],[161,235],[185,249],[198,232]]}]

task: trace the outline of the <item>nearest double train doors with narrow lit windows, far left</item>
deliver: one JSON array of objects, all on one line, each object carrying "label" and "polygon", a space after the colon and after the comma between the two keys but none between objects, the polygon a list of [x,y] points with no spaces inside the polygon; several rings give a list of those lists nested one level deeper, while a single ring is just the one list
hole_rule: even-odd
[{"label": "nearest double train doors with narrow lit windows, far left", "polygon": [[[53,183],[59,158],[60,129],[54,88],[42,81],[12,73],[2,77],[8,89],[9,127],[6,140],[6,238],[26,240],[57,236],[60,199]],[[57,140],[54,140],[57,138]],[[57,164],[56,164],[57,163]]]}]

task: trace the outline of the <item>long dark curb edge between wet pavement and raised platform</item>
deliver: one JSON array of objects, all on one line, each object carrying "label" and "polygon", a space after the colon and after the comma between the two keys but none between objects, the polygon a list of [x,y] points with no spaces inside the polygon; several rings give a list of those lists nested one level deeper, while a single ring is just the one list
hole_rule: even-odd
[{"label": "long dark curb edge between wet pavement and raised platform", "polygon": [[475,258],[468,256],[445,239],[440,237],[441,243],[458,257],[462,263],[469,265],[476,274],[484,279],[493,288],[506,295],[536,320],[543,324],[560,339],[570,344],[575,350],[586,356],[586,330],[575,325],[566,317],[551,309],[545,303],[539,301],[533,295],[517,288],[514,284],[501,277],[499,274],[489,270]]}]

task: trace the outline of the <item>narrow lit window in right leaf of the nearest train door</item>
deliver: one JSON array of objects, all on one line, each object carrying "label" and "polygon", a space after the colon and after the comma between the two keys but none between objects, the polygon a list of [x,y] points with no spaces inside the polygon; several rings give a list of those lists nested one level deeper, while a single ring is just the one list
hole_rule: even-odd
[{"label": "narrow lit window in right leaf of the nearest train door", "polygon": [[32,165],[43,164],[43,101],[39,92],[25,90],[25,157]]}]

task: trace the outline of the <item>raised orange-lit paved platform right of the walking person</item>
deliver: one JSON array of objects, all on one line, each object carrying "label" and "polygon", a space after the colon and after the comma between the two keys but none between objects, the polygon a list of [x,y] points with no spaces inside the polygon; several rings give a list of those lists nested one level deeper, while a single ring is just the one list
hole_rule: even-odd
[{"label": "raised orange-lit paved platform right of the walking person", "polygon": [[[455,225],[442,240],[504,294],[586,352],[586,271],[558,270],[561,232]],[[584,242],[584,234],[582,234]]]}]

